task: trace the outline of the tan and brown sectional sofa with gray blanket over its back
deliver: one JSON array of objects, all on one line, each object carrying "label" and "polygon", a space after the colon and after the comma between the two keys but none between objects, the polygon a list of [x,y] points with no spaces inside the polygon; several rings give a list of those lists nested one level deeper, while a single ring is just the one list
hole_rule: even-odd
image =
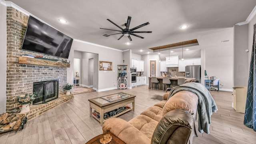
[{"label": "tan and brown sectional sofa with gray blanket over its back", "polygon": [[[146,109],[129,122],[120,118],[111,118],[104,122],[102,130],[104,133],[110,131],[127,144],[192,144],[193,137],[197,136],[194,122],[199,108],[198,102],[200,107],[204,107],[202,97],[198,96],[198,92],[193,91],[193,87],[197,86],[204,89],[204,86],[198,84],[187,83],[178,86],[180,88],[172,89],[168,96],[163,97],[164,100]],[[184,87],[193,90],[184,90]],[[208,90],[202,91],[199,93],[205,93],[209,97],[204,100],[206,105],[210,106],[211,112],[216,111],[217,107],[210,93],[207,93]],[[208,113],[211,115],[211,112]],[[198,114],[200,116],[201,112]],[[210,125],[210,120],[207,118],[204,120],[202,114],[199,118],[206,126],[198,130],[208,133],[207,124]]]}]

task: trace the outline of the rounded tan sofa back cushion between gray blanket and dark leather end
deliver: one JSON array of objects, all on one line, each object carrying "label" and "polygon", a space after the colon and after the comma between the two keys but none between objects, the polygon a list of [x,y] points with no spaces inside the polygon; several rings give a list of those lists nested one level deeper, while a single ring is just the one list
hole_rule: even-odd
[{"label": "rounded tan sofa back cushion between gray blanket and dark leather end", "polygon": [[170,112],[171,110],[181,108],[187,110],[190,114],[196,113],[198,97],[196,94],[188,91],[180,91],[174,94],[164,104],[162,115]]}]

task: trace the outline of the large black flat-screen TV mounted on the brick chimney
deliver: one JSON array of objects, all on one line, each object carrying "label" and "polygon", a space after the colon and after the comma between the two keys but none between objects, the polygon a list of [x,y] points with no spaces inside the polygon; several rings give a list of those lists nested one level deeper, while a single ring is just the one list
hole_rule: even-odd
[{"label": "large black flat-screen TV mounted on the brick chimney", "polygon": [[21,49],[68,58],[73,39],[29,16]]}]

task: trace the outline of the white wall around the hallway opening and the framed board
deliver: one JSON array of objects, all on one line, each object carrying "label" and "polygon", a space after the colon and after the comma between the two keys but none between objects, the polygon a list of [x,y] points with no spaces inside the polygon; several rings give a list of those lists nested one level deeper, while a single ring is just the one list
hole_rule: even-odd
[{"label": "white wall around the hallway opening and the framed board", "polygon": [[[121,50],[106,48],[104,46],[100,46],[97,44],[90,44],[87,42],[74,40],[72,43],[72,47],[71,47],[69,58],[68,58],[68,60],[70,60],[70,68],[68,68],[68,74],[67,74],[67,81],[69,83],[72,82],[73,80],[72,76],[73,76],[73,66],[74,66],[73,64],[74,50],[98,54],[98,60],[94,59],[94,64],[97,64],[97,66],[94,66],[94,68],[96,68],[98,72],[98,76],[94,75],[94,77],[98,78],[97,90],[99,92],[104,90],[116,89],[117,65],[123,63]],[[99,61],[112,62],[112,71],[99,70],[99,67],[98,67]]]}]

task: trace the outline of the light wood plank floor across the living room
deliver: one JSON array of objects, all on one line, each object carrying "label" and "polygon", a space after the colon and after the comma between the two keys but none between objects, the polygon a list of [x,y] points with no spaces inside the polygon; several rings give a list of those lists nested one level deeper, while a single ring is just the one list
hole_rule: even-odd
[{"label": "light wood plank floor across the living room", "polygon": [[[0,134],[0,144],[84,144],[102,134],[102,127],[89,117],[88,99],[117,92],[136,95],[135,111],[119,118],[129,121],[146,108],[162,100],[163,90],[140,86],[130,90],[110,90],[74,95],[70,100],[27,122],[18,132]],[[198,133],[194,144],[256,144],[256,132],[244,126],[244,114],[234,111],[232,92],[210,92],[218,106],[212,115],[210,134]],[[196,122],[198,124],[198,122]]]}]

